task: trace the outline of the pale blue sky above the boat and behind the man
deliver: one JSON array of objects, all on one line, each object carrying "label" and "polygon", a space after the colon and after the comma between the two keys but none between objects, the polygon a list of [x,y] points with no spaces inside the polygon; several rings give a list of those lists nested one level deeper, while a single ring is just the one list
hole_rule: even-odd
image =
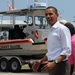
[{"label": "pale blue sky above the boat and behind the man", "polygon": [[[59,11],[59,18],[67,21],[75,20],[75,0],[38,0],[39,2],[47,2],[47,6],[55,6]],[[8,10],[7,2],[12,5],[12,0],[0,0],[0,11]],[[34,0],[14,0],[15,9],[23,9],[29,5],[33,5]]]}]

